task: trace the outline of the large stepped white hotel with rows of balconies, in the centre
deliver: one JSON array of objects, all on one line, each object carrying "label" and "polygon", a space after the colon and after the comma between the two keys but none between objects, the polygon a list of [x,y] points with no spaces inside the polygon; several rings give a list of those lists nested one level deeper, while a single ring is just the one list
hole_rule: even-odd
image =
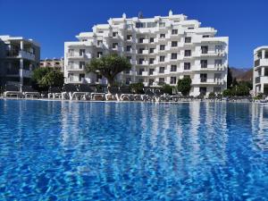
[{"label": "large stepped white hotel with rows of balconies, in the centre", "polygon": [[144,19],[141,16],[113,18],[82,32],[77,42],[64,44],[66,83],[99,83],[106,80],[85,71],[93,57],[117,53],[130,59],[130,71],[117,80],[145,86],[176,85],[179,79],[192,80],[191,96],[220,93],[227,86],[227,37],[215,37],[217,30],[201,28],[200,22],[183,14]]}]

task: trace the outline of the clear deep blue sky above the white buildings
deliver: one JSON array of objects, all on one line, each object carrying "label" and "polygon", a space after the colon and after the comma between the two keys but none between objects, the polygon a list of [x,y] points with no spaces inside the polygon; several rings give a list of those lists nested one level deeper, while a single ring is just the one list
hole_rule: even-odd
[{"label": "clear deep blue sky above the white buildings", "polygon": [[110,17],[183,13],[230,37],[230,66],[250,67],[256,46],[268,45],[267,0],[0,0],[0,35],[33,38],[41,57],[63,56],[63,42],[76,40]]}]

